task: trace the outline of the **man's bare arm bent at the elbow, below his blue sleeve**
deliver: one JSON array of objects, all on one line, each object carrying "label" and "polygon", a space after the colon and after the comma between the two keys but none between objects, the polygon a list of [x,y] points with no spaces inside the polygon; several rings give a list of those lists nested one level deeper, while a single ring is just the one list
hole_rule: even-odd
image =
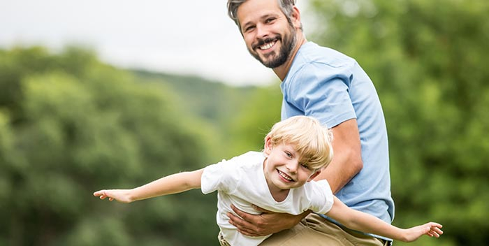
[{"label": "man's bare arm bent at the elbow, below his blue sleeve", "polygon": [[333,161],[314,180],[328,180],[336,194],[363,168],[360,133],[356,119],[332,128]]}]

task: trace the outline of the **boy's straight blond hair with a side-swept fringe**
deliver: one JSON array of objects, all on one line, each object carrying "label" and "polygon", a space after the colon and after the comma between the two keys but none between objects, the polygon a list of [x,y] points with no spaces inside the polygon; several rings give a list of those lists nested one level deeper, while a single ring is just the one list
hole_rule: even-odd
[{"label": "boy's straight blond hair with a side-swept fringe", "polygon": [[326,167],[333,159],[333,133],[313,117],[298,115],[277,122],[265,141],[269,137],[273,146],[282,143],[295,145],[295,151],[301,157],[300,162],[309,168]]}]

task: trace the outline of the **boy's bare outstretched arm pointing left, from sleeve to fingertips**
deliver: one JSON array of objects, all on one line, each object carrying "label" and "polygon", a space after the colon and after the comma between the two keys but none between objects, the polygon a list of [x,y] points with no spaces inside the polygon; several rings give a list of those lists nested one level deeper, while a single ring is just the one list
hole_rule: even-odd
[{"label": "boy's bare outstretched arm pointing left, from sleeve to fingertips", "polygon": [[101,199],[109,198],[109,201],[117,200],[121,203],[131,203],[155,196],[176,194],[189,189],[200,188],[202,173],[203,169],[175,173],[134,189],[102,189],[95,191],[94,196]]}]

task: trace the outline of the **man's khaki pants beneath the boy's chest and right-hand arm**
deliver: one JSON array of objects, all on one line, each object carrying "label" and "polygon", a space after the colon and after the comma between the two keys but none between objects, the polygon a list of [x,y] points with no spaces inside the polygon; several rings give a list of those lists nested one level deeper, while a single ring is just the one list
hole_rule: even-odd
[{"label": "man's khaki pants beneath the boy's chest and right-hand arm", "polygon": [[310,214],[293,228],[275,233],[260,244],[260,246],[279,245],[383,246],[388,245],[388,242],[348,229],[345,231],[319,215]]}]

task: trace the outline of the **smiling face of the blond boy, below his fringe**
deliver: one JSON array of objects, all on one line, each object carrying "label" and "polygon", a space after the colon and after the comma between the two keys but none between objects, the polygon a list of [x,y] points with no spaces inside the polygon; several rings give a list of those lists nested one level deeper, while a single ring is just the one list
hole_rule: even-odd
[{"label": "smiling face of the blond boy, below his fringe", "polygon": [[295,151],[294,145],[272,145],[270,138],[265,141],[265,161],[263,172],[272,189],[291,189],[304,185],[314,179],[321,171],[309,168],[307,164],[300,163],[300,154]]}]

